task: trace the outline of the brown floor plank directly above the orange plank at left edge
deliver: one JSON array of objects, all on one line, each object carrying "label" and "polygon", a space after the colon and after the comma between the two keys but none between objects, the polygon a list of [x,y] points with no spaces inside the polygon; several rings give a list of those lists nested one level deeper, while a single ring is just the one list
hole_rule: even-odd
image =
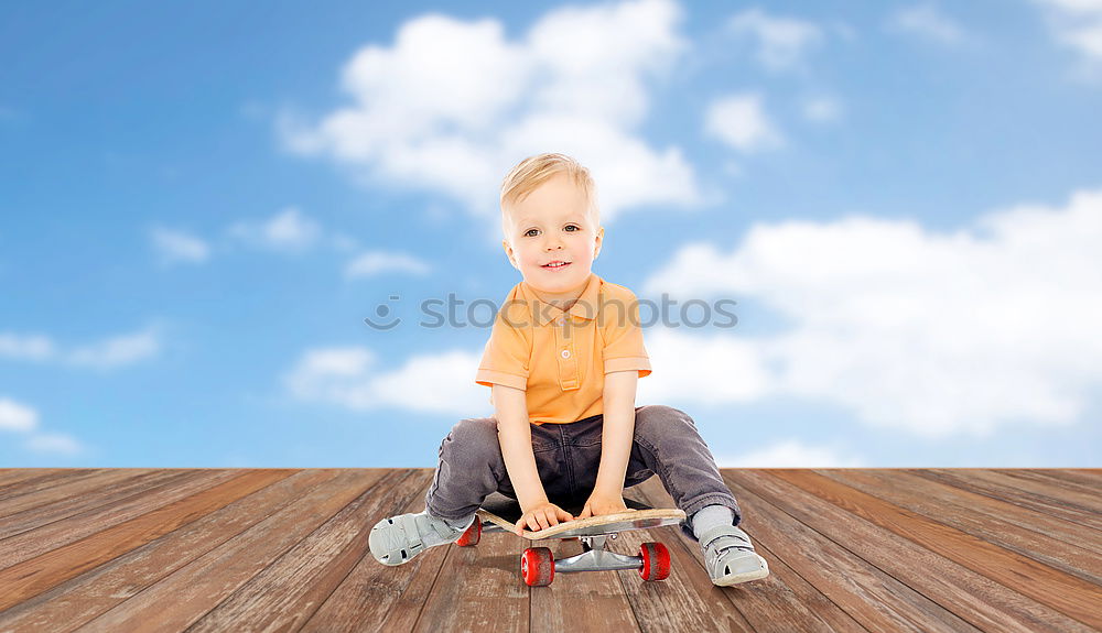
[{"label": "brown floor plank directly above the orange plank at left edge", "polygon": [[97,532],[114,528],[143,514],[176,503],[188,495],[218,485],[233,477],[233,472],[224,470],[194,471],[185,478],[162,482],[136,492],[117,503],[94,508],[76,514],[69,520],[17,534],[2,542],[0,569],[65,547]]}]

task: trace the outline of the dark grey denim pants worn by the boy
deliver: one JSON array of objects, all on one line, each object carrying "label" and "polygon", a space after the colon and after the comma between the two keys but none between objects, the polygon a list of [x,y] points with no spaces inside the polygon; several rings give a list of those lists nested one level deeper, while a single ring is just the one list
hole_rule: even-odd
[{"label": "dark grey denim pants worn by the boy", "polygon": [[[560,508],[581,508],[588,499],[601,463],[603,416],[571,424],[532,425],[536,469],[548,500]],[[635,410],[635,438],[625,488],[658,474],[673,502],[691,517],[705,505],[725,505],[742,520],[738,502],[723,483],[707,445],[685,413],[662,405]],[[516,499],[493,417],[460,421],[440,445],[440,462],[425,493],[429,514],[466,520],[494,492]],[[692,528],[682,531],[696,539]]]}]

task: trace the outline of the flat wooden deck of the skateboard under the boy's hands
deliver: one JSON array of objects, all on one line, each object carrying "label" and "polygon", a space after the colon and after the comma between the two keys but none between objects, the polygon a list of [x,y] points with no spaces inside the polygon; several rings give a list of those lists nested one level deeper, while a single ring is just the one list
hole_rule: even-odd
[{"label": "flat wooden deck of the skateboard under the boy's hands", "polygon": [[[486,498],[482,508],[478,509],[477,515],[483,525],[487,523],[497,525],[506,532],[511,532],[528,541],[618,534],[628,530],[677,525],[685,520],[685,513],[676,508],[656,509],[631,499],[625,499],[624,504],[628,506],[627,512],[590,516],[587,519],[574,519],[573,521],[561,522],[559,525],[552,525],[538,532],[528,530],[518,531],[516,528],[517,522],[520,521],[521,516],[520,503],[500,493],[494,493]],[[582,512],[582,508],[563,508],[563,510],[572,516],[577,516]]]}]

